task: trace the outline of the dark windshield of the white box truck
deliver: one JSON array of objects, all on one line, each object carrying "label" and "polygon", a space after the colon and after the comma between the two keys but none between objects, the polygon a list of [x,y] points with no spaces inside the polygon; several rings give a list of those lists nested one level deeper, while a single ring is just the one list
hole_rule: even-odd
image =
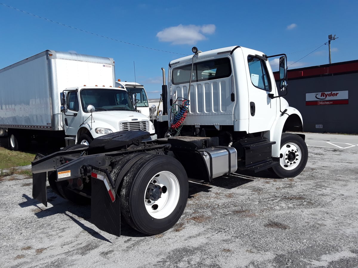
[{"label": "dark windshield of the white box truck", "polygon": [[82,89],[80,95],[83,111],[85,112],[88,112],[88,105],[95,106],[95,111],[134,111],[129,94],[125,90]]}]

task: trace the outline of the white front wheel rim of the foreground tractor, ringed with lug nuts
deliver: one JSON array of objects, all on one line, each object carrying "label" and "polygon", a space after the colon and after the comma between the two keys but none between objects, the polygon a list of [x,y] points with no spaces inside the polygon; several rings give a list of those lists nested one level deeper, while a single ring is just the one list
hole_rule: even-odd
[{"label": "white front wheel rim of the foreground tractor, ringed with lug nuts", "polygon": [[300,147],[295,143],[286,143],[280,150],[280,165],[286,170],[297,168],[302,158]]}]

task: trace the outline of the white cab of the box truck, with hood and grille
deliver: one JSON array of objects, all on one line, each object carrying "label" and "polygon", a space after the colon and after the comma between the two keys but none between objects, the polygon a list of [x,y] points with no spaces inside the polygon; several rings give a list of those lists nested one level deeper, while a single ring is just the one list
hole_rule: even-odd
[{"label": "white cab of the box truck, with hood and grille", "polygon": [[62,124],[66,144],[89,144],[93,139],[122,130],[149,132],[156,139],[153,123],[138,113],[125,89],[74,87],[61,93]]}]

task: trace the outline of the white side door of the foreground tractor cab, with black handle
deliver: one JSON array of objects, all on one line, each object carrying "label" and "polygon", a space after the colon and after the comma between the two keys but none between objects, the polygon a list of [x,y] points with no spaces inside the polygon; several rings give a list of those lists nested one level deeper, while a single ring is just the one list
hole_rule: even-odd
[{"label": "white side door of the foreground tractor cab, with black handle", "polygon": [[270,130],[276,117],[276,99],[269,94],[275,89],[266,66],[267,58],[248,55],[249,133]]}]

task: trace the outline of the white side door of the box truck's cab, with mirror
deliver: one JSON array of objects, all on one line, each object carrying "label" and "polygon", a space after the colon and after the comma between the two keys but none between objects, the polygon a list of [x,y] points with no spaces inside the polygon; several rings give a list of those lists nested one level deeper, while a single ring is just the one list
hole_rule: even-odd
[{"label": "white side door of the box truck's cab, with mirror", "polygon": [[78,89],[65,90],[67,111],[64,113],[64,129],[66,135],[76,136],[79,125],[82,123],[81,111],[79,110]]}]

